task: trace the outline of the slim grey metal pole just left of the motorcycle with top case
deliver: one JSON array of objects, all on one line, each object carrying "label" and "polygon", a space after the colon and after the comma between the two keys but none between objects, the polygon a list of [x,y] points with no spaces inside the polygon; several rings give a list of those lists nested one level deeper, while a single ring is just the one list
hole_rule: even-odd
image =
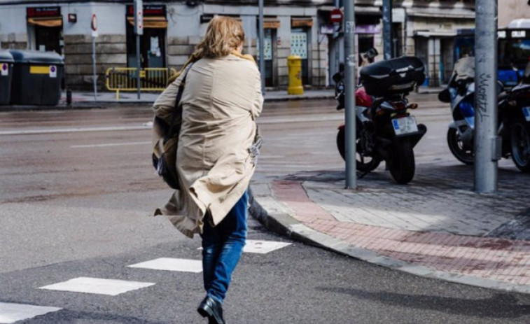
[{"label": "slim grey metal pole just left of the motorcycle with top case", "polygon": [[346,188],[357,187],[355,141],[355,6],[344,1],[344,87],[346,124]]}]

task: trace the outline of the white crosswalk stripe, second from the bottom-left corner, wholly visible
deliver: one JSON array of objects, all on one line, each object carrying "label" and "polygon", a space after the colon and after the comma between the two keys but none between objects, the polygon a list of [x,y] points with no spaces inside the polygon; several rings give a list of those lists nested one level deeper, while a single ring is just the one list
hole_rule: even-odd
[{"label": "white crosswalk stripe, second from the bottom-left corner, wholly visible", "polygon": [[122,293],[127,293],[127,291],[153,286],[154,284],[155,283],[142,283],[138,281],[79,277],[62,283],[54,283],[53,285],[40,287],[39,289],[116,296]]}]

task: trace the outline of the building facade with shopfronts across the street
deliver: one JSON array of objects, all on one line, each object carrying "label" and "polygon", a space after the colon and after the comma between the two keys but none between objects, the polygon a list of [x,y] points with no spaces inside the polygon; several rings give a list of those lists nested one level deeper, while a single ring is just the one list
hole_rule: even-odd
[{"label": "building facade with shopfronts across the street", "polygon": [[[244,52],[258,52],[257,0],[144,0],[140,62],[146,67],[180,69],[215,15],[242,21]],[[302,57],[306,87],[333,83],[344,58],[340,24],[330,22],[333,0],[265,0],[265,85],[288,83],[287,57]],[[356,0],[358,52],[382,53],[382,0]],[[426,65],[429,85],[443,83],[452,69],[456,29],[474,26],[474,1],[393,1],[393,52],[417,55]],[[64,56],[67,87],[92,85],[92,16],[97,17],[98,83],[111,67],[136,67],[132,0],[0,0],[0,47],[54,50]],[[382,55],[377,59],[382,59]]]}]

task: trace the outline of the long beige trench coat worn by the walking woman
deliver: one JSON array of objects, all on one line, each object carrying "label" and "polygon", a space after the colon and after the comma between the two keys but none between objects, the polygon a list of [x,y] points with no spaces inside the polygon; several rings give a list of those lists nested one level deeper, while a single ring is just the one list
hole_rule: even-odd
[{"label": "long beige trench coat worn by the walking woman", "polygon": [[[183,76],[153,105],[169,121]],[[260,73],[253,60],[239,55],[200,59],[189,69],[182,94],[183,108],[176,166],[181,190],[156,209],[183,234],[202,232],[208,211],[217,225],[241,198],[255,169],[249,152],[263,108]]]}]

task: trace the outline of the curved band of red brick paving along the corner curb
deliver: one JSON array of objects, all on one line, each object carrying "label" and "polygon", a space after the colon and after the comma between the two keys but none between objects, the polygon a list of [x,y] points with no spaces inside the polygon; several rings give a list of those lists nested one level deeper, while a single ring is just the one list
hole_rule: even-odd
[{"label": "curved band of red brick paving along the corner curb", "polygon": [[412,232],[342,222],[312,202],[300,181],[274,181],[272,193],[313,230],[380,255],[452,274],[526,285],[530,243],[435,232]]}]

